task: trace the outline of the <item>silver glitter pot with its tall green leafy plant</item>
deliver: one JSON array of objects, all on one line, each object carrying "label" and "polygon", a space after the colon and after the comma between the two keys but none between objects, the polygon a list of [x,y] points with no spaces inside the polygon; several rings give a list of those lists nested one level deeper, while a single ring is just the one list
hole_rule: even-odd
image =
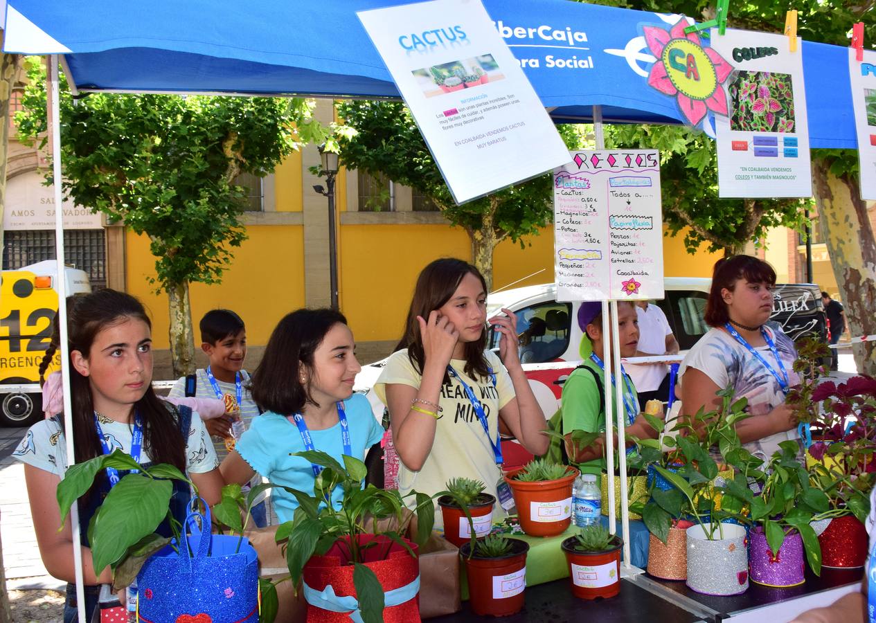
[{"label": "silver glitter pot with its tall green leafy plant", "polygon": [[677,471],[654,466],[673,489],[654,492],[656,507],[646,524],[668,524],[673,517],[689,515],[694,525],[687,529],[688,586],[707,594],[736,595],[748,588],[748,539],[745,527],[738,525],[746,520],[744,503],[731,496],[722,499],[726,483],[715,480],[719,468],[712,452],[743,472],[762,461],[741,447],[736,433],[735,424],[748,416],[747,400],[734,401],[731,388],[717,395],[722,400],[717,411],[701,409],[691,421],[675,426],[682,433],[675,438],[682,466]]}]

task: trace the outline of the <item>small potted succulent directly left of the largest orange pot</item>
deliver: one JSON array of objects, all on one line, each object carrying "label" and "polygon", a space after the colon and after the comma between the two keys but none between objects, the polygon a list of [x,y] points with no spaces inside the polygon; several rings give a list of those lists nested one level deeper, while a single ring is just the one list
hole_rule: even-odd
[{"label": "small potted succulent directly left of the largest orange pot", "polygon": [[471,478],[453,478],[448,493],[438,498],[444,523],[444,538],[458,548],[474,537],[489,535],[496,498],[484,493],[486,485]]}]

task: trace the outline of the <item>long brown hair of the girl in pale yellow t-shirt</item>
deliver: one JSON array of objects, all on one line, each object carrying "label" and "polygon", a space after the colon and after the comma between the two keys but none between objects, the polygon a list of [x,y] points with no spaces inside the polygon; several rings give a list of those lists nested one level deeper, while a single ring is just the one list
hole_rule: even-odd
[{"label": "long brown hair of the girl in pale yellow t-shirt", "polygon": [[[405,334],[402,336],[394,350],[407,349],[407,357],[410,358],[414,369],[423,373],[423,365],[426,364],[426,354],[423,351],[423,338],[420,335],[419,315],[423,320],[428,320],[429,313],[450,300],[456,292],[463,277],[473,274],[487,292],[487,284],[484,276],[473,265],[462,259],[441,258],[436,259],[420,273],[417,285],[413,288],[411,307],[407,311],[405,321]],[[484,379],[490,374],[490,365],[484,357],[484,349],[487,345],[487,331],[481,332],[481,336],[474,342],[465,343],[465,373],[472,379]],[[449,383],[447,374],[444,382]]]}]

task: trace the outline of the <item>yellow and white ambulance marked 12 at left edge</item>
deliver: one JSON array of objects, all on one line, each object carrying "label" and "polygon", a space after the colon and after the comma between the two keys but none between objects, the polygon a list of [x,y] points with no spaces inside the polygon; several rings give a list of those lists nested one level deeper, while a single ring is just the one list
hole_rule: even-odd
[{"label": "yellow and white ambulance marked 12 at left edge", "polygon": [[[91,292],[88,274],[67,267],[67,294]],[[58,313],[58,264],[53,259],[3,271],[0,280],[0,425],[30,426],[42,414],[39,363]],[[46,375],[58,369],[55,353]]]}]

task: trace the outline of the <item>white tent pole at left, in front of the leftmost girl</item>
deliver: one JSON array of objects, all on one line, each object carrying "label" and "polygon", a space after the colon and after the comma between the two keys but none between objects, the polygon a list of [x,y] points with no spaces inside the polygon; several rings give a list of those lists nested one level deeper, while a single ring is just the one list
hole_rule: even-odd
[{"label": "white tent pole at left, in front of the leftmost girl", "polygon": [[[60,171],[60,92],[58,89],[58,55],[49,56],[49,71],[52,81],[52,110],[48,111],[49,127],[52,135],[52,166],[54,175],[55,201],[55,257],[58,260],[58,278],[55,290],[58,292],[58,325],[60,328],[60,373],[64,386],[64,438],[67,441],[67,466],[76,463],[73,440],[73,405],[70,394],[70,348],[67,342],[67,272],[64,269],[64,210],[61,195]],[[79,609],[80,623],[85,619],[85,584],[82,580],[82,548],[79,536],[79,505],[74,502],[70,508],[70,525],[73,531],[73,563],[76,575],[76,605]]]}]

